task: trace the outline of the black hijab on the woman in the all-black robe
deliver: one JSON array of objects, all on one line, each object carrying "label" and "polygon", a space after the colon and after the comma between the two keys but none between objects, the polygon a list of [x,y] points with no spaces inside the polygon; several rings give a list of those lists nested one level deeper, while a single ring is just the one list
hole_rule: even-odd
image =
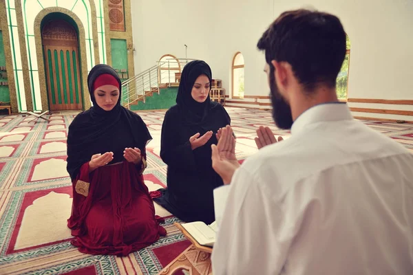
[{"label": "black hijab on the woman in the all-black robe", "polygon": [[205,118],[207,118],[209,111],[217,106],[217,104],[211,102],[209,93],[207,99],[202,103],[195,101],[191,96],[193,84],[196,78],[202,74],[207,76],[209,83],[212,85],[211,67],[204,61],[191,61],[182,70],[176,104],[182,113],[182,120],[186,125],[202,124]]}]

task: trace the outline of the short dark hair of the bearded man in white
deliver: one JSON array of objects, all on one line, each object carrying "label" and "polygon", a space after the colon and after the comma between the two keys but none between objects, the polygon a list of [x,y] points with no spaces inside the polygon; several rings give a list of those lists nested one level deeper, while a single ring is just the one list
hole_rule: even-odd
[{"label": "short dark hair of the bearded man in white", "polygon": [[310,10],[283,12],[257,43],[266,63],[286,61],[306,91],[336,85],[346,56],[346,32],[332,14]]}]

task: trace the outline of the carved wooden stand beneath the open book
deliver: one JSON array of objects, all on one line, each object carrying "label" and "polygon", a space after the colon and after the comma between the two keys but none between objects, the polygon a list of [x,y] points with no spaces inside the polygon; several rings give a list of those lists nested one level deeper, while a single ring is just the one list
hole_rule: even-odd
[{"label": "carved wooden stand beneath the open book", "polygon": [[191,241],[189,248],[184,250],[178,257],[176,257],[169,265],[160,271],[159,275],[173,275],[179,270],[187,270],[191,275],[209,275],[212,274],[211,253],[212,248],[209,246],[200,245],[195,241],[191,234],[180,225],[180,223],[173,223],[182,234]]}]

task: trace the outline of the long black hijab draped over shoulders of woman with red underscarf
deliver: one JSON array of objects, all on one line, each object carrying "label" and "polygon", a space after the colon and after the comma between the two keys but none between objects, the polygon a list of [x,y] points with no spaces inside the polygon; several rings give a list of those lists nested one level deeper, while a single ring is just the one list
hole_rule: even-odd
[{"label": "long black hijab draped over shoulders of woman with red underscarf", "polygon": [[[76,115],[76,118],[69,126],[69,133],[67,135],[67,172],[72,180],[78,175],[81,166],[85,162],[89,162],[94,153],[110,151],[108,148],[105,148],[106,145],[104,144],[107,144],[105,137],[116,135],[117,142],[119,140],[121,142],[123,136],[127,135],[130,139],[131,135],[136,147],[140,148],[142,152],[144,152],[147,142],[152,139],[142,118],[120,105],[121,91],[119,91],[118,102],[111,111],[105,111],[96,104],[93,87],[96,78],[101,74],[114,76],[118,81],[120,90],[122,87],[118,74],[109,65],[96,65],[89,72],[87,87],[93,107]],[[127,125],[127,129],[120,129],[121,132],[119,132],[117,127],[120,122],[125,122]],[[115,129],[118,133],[113,133]]]}]

